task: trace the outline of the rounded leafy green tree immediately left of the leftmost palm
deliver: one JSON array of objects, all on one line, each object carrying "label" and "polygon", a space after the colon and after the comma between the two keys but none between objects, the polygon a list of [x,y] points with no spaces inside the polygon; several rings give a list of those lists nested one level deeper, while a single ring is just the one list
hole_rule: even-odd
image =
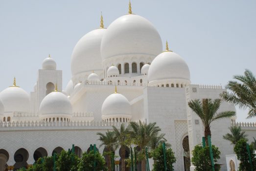
[{"label": "rounded leafy green tree immediately left of the leftmost palm", "polygon": [[93,171],[94,160],[96,162],[96,171],[108,171],[104,157],[99,152],[94,155],[93,151],[83,153],[81,162],[78,165],[79,169],[76,171]]}]

